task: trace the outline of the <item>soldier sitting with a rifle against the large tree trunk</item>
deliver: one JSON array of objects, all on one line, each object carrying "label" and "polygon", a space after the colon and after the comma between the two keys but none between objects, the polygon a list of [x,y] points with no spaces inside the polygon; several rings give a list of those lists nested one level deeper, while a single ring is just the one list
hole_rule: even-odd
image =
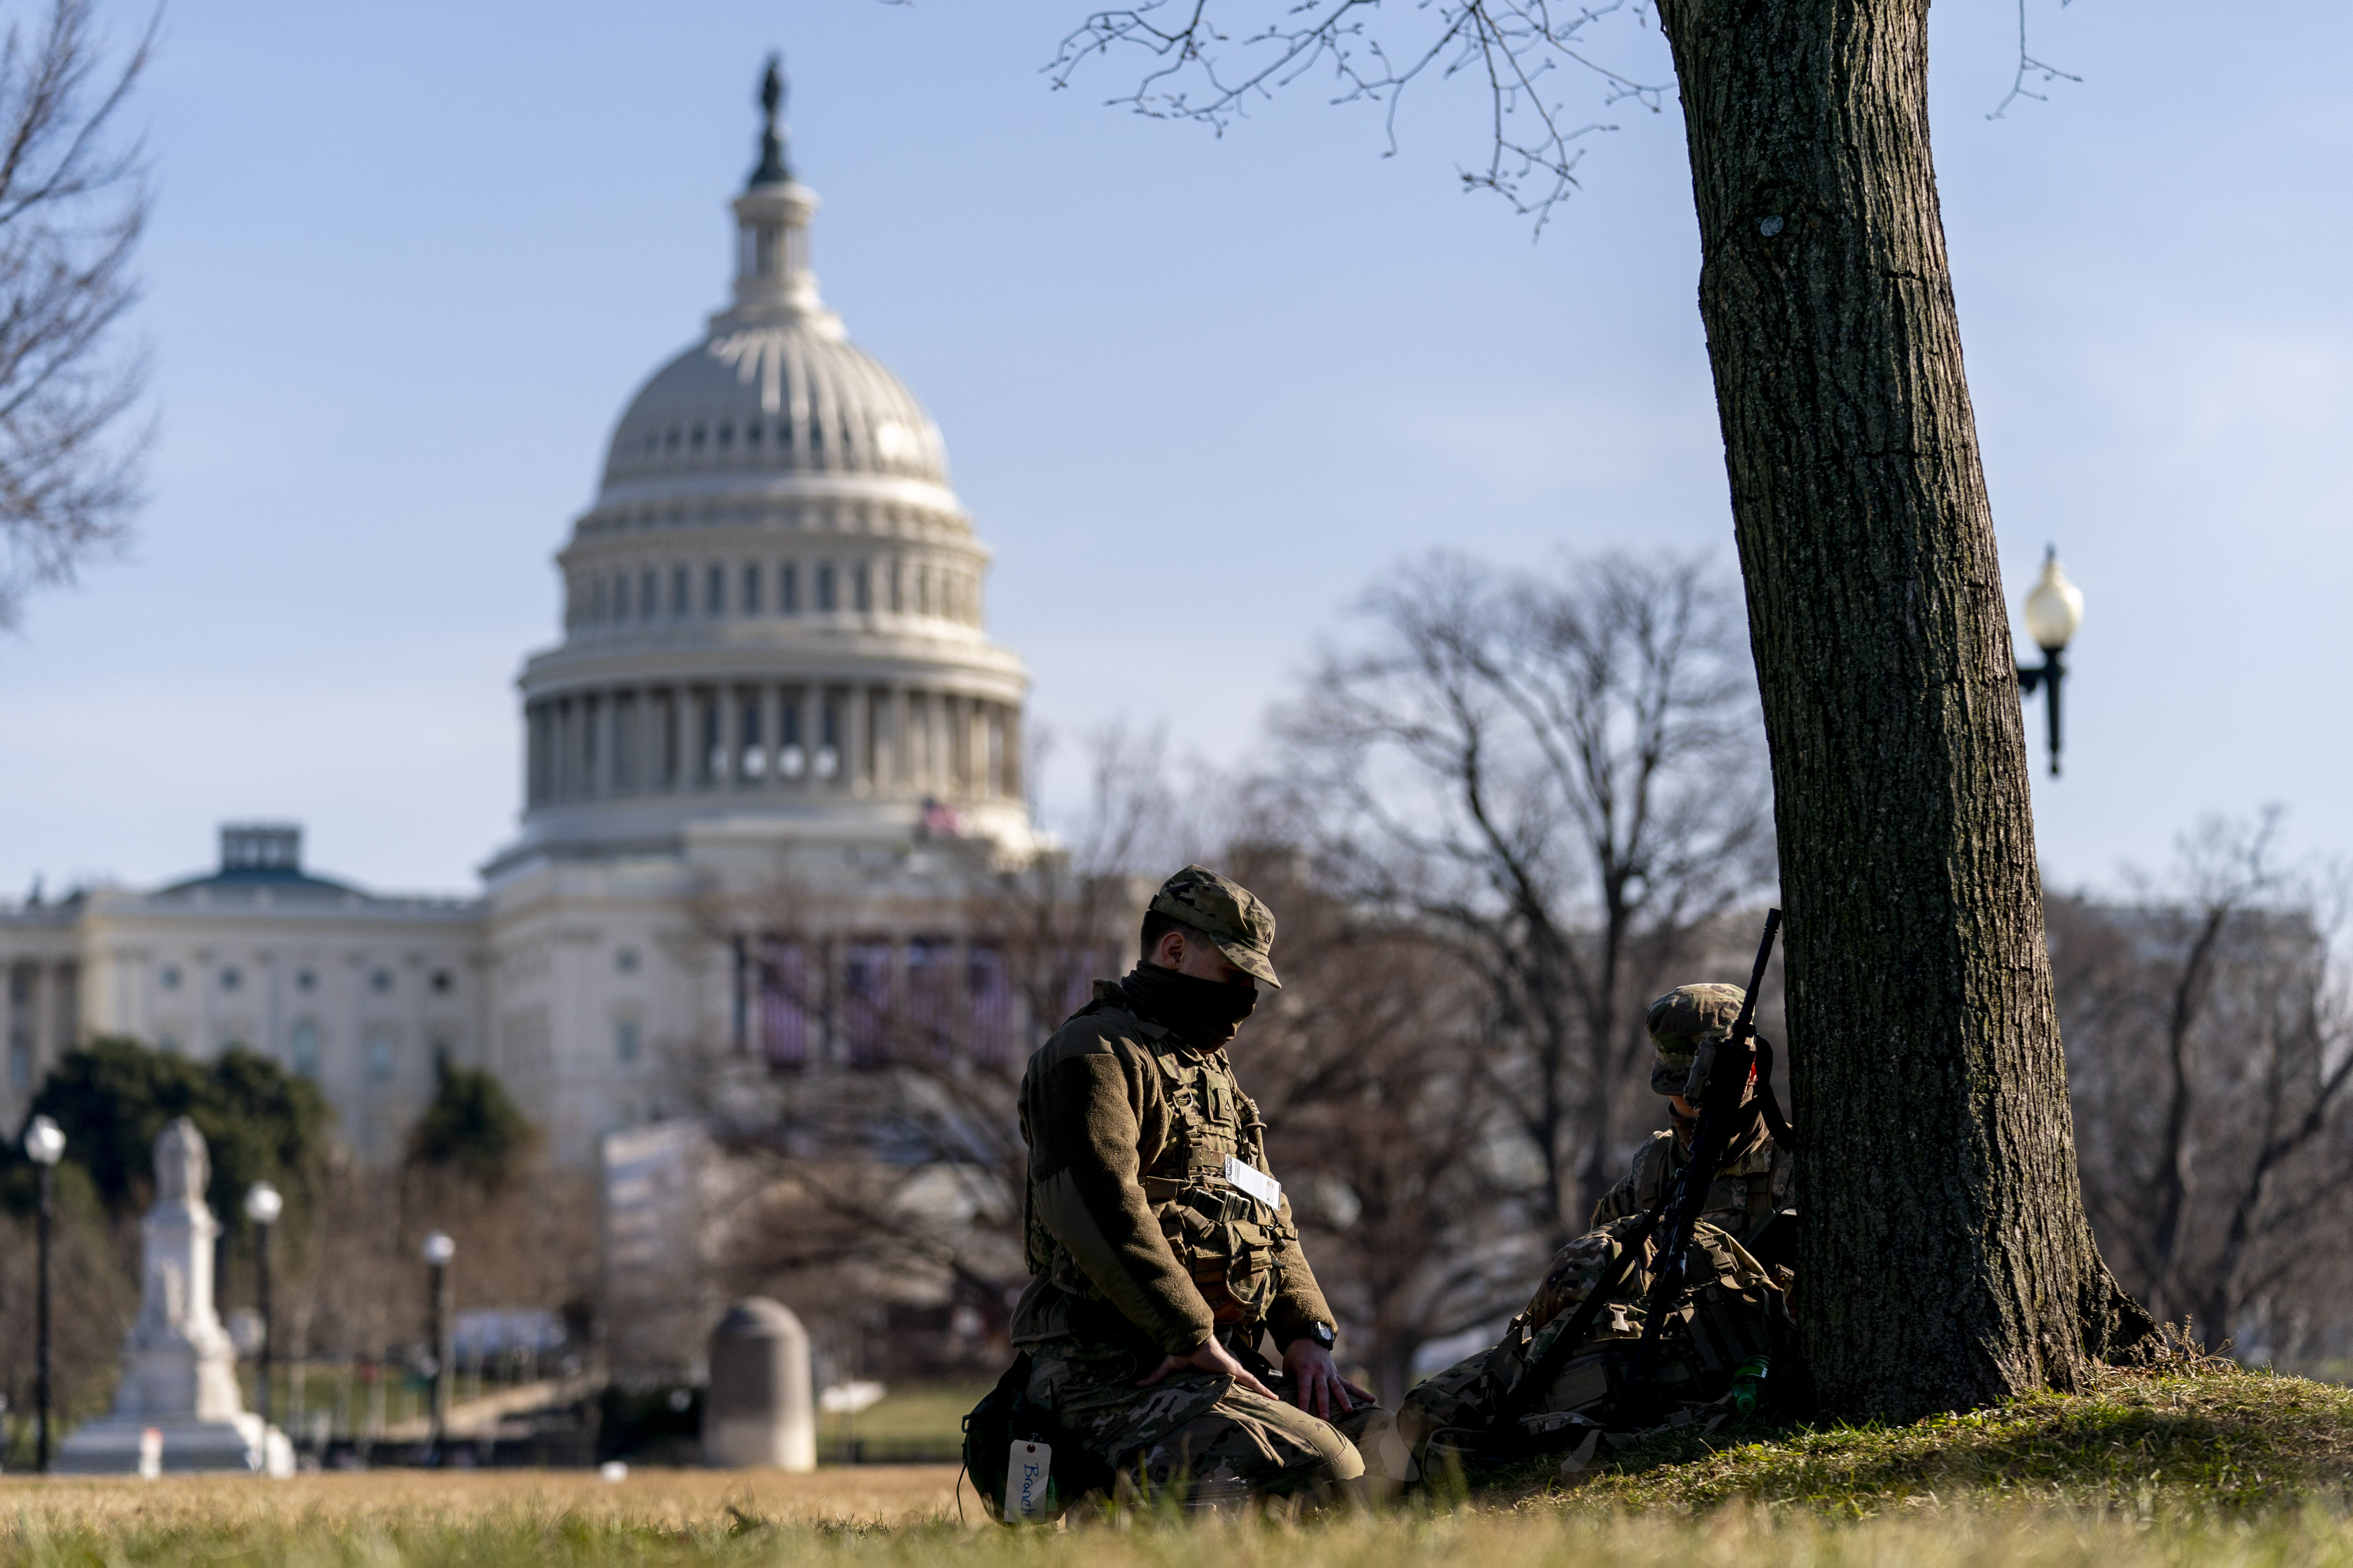
[{"label": "soldier sitting with a rifle against the large tree trunk", "polygon": [[[1593,1229],[1553,1255],[1544,1284],[1504,1331],[1504,1340],[1426,1378],[1405,1396],[1398,1429],[1417,1465],[1445,1467],[1449,1458],[1466,1460],[1489,1446],[1489,1429],[1527,1366],[1569,1326],[1659,1194],[1682,1171],[1699,1128],[1699,1112],[1682,1098],[1692,1058],[1701,1041],[1732,1032],[1744,994],[1739,985],[1678,985],[1652,1001],[1649,1084],[1668,1095],[1673,1126],[1652,1133],[1626,1178],[1602,1194],[1593,1208]],[[1784,1239],[1777,1227],[1786,1229],[1784,1211],[1791,1201],[1791,1154],[1774,1147],[1760,1119],[1748,1135],[1734,1140],[1715,1171],[1694,1229],[1678,1305],[1680,1326],[1671,1326],[1661,1340],[1659,1392],[1671,1403],[1680,1401],[1678,1420],[1692,1420],[1701,1406],[1722,1399],[1739,1368],[1767,1354],[1772,1316],[1791,1276],[1786,1269],[1769,1274],[1751,1246]],[[1642,1338],[1657,1246],[1657,1237],[1645,1244],[1642,1260],[1595,1319],[1586,1349],[1574,1352],[1551,1385],[1525,1403],[1529,1415],[1522,1420],[1522,1436],[1553,1439],[1572,1453],[1593,1455],[1609,1399],[1624,1387],[1633,1347]]]}]

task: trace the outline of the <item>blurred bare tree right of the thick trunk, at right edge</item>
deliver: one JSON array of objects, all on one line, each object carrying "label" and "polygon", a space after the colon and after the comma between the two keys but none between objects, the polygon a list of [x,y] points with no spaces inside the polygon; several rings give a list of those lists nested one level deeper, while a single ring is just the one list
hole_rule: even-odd
[{"label": "blurred bare tree right of the thick trunk, at right edge", "polygon": [[2282,865],[2278,813],[2207,820],[2132,905],[2054,898],[2085,1197],[2151,1312],[2275,1342],[2344,1316],[2353,1020],[2332,973],[2341,891]]}]

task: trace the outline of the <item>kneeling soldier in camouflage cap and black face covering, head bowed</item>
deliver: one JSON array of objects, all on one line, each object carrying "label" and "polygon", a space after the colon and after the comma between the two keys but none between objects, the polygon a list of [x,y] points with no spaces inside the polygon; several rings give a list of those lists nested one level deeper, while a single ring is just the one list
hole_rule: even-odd
[{"label": "kneeling soldier in camouflage cap and black face covering, head bowed", "polygon": [[1136,969],[1096,983],[1021,1079],[1028,1399],[1188,1507],[1322,1500],[1367,1458],[1409,1479],[1391,1415],[1332,1366],[1332,1307],[1226,1058],[1257,987],[1280,985],[1273,936],[1259,898],[1188,865],[1153,896]]}]

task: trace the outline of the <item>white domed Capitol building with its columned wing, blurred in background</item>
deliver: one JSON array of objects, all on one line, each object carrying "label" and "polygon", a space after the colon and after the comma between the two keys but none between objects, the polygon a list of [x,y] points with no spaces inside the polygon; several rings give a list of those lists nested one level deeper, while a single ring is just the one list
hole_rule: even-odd
[{"label": "white domed Capitol building with its columned wing, blurred in background", "polygon": [[[372,1164],[400,1159],[438,1060],[489,1067],[586,1168],[687,1110],[682,1060],[854,1051],[859,1006],[819,994],[873,1013],[925,980],[1009,1027],[962,889],[1038,849],[1028,675],[988,639],[939,430],[819,296],[819,202],[767,96],[732,299],[621,411],[558,552],[520,825],[480,893],[372,893],[308,870],[299,827],[235,823],[209,875],[5,907],[9,1126],[64,1048],[127,1034],[315,1079]],[[715,914],[779,900],[840,940]]]}]

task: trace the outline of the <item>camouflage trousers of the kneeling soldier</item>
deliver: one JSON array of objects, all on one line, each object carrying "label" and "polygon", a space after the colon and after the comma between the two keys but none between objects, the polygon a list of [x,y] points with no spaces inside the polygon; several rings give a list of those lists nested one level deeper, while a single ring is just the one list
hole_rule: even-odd
[{"label": "camouflage trousers of the kneeling soldier", "polygon": [[[1242,1356],[1245,1366],[1252,1361]],[[1139,1389],[1136,1380],[1158,1363],[1158,1354],[1125,1345],[1033,1345],[1028,1396],[1054,1410],[1054,1420],[1118,1469],[1122,1483],[1141,1483],[1188,1509],[1369,1493],[1367,1458],[1374,1483],[1409,1479],[1395,1418],[1379,1406],[1318,1420],[1289,1403],[1287,1378],[1268,1378],[1259,1366],[1252,1366],[1259,1380],[1285,1399],[1264,1399],[1233,1378],[1191,1366]]]}]

